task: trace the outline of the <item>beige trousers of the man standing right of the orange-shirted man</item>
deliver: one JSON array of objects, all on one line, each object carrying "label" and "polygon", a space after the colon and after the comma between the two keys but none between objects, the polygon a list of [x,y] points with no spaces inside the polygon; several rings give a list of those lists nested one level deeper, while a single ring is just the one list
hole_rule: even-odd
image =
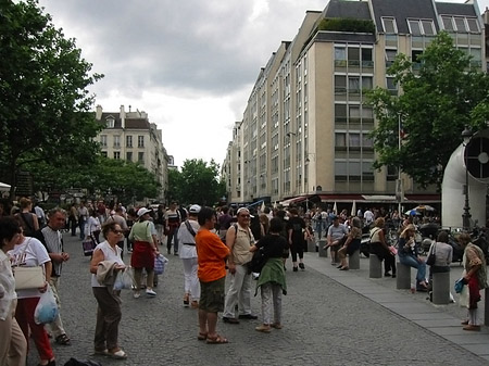
[{"label": "beige trousers of the man standing right of the orange-shirted man", "polygon": [[236,265],[236,273],[227,274],[229,289],[224,303],[224,317],[234,318],[235,306],[238,303],[239,315],[251,314],[251,274],[247,265]]}]

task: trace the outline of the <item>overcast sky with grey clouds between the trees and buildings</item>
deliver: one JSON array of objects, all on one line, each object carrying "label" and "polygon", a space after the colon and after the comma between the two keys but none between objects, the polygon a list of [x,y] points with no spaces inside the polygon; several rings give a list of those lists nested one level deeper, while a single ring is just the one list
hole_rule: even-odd
[{"label": "overcast sky with grey clouds between the trees and buildings", "polygon": [[[402,0],[399,0],[402,1]],[[222,164],[260,68],[328,0],[40,0],[93,72],[104,112],[146,111],[175,163]],[[460,1],[459,1],[460,2]],[[484,10],[489,0],[479,1]]]}]

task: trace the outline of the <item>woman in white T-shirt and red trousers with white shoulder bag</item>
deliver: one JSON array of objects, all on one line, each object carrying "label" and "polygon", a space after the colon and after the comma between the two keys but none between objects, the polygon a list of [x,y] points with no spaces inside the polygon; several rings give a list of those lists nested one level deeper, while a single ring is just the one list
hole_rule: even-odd
[{"label": "woman in white T-shirt and red trousers with white shoulder bag", "polygon": [[45,245],[42,245],[39,240],[24,237],[23,232],[20,234],[18,241],[15,243],[14,249],[9,251],[8,254],[11,257],[13,267],[43,267],[46,278],[42,288],[17,290],[18,302],[15,311],[15,319],[17,320],[26,341],[28,342],[29,336],[33,338],[37,352],[39,353],[39,365],[54,366],[54,353],[52,352],[48,333],[45,330],[45,325],[36,324],[34,320],[34,313],[39,303],[40,295],[48,289],[52,270],[51,258],[49,257]]}]

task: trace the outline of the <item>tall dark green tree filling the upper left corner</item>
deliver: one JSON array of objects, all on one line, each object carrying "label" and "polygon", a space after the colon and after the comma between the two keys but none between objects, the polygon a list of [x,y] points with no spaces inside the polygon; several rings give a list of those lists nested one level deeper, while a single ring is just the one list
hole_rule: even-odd
[{"label": "tall dark green tree filling the upper left corner", "polygon": [[89,162],[101,125],[89,110],[91,74],[74,39],[54,28],[36,0],[0,2],[0,178],[12,186],[29,162]]}]

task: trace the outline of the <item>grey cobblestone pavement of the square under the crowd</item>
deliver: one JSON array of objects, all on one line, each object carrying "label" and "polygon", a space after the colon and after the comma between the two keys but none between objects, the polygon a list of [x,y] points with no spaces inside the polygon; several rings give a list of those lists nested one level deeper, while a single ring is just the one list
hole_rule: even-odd
[{"label": "grey cobblestone pavement of the square under the crowd", "polygon": [[[239,325],[218,321],[228,344],[205,344],[197,340],[197,312],[183,306],[183,266],[170,255],[167,272],[160,276],[158,296],[133,299],[122,294],[123,319],[120,343],[126,361],[92,355],[97,304],[91,293],[89,258],[82,243],[68,234],[65,250],[72,258],[63,268],[62,318],[71,346],[53,343],[57,364],[70,357],[93,359],[102,365],[487,365],[488,363],[399,316],[379,303],[333,280],[308,265],[329,266],[327,258],[306,254],[305,272],[292,273],[288,263],[288,295],[283,299],[284,328],[260,333],[260,320]],[[313,258],[314,256],[314,258]],[[128,263],[128,255],[124,260]],[[323,262],[317,262],[323,261]],[[353,272],[351,272],[353,273]],[[350,275],[352,280],[359,274]],[[381,286],[381,285],[379,285]],[[252,307],[260,315],[260,295]],[[471,335],[467,335],[469,337]],[[488,344],[489,345],[489,344]],[[32,346],[27,366],[38,357]]]}]

